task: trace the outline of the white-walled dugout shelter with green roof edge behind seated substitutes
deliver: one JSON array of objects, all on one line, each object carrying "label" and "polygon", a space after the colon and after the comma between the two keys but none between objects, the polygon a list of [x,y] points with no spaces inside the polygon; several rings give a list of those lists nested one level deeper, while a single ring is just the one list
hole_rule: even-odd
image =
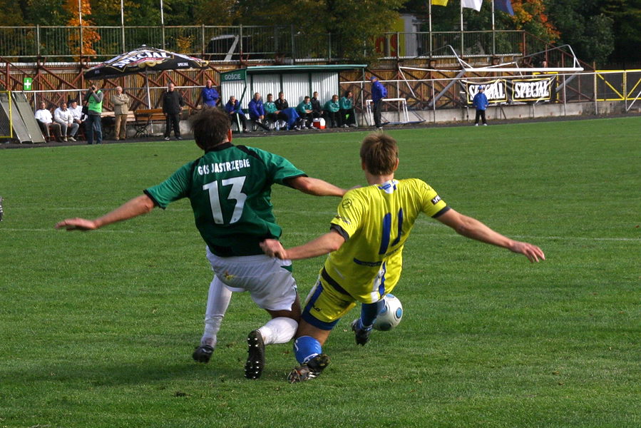
[{"label": "white-walled dugout shelter with green roof edge behind seated substitutes", "polygon": [[289,102],[289,107],[296,107],[304,96],[318,92],[319,101],[332,98],[340,93],[339,73],[341,71],[360,70],[365,79],[366,64],[330,64],[312,66],[255,66],[239,68],[220,73],[221,102],[227,103],[230,96],[240,101],[242,108],[247,108],[254,93],[260,92],[262,101],[267,101],[267,94],[272,93],[274,100],[280,91]]}]

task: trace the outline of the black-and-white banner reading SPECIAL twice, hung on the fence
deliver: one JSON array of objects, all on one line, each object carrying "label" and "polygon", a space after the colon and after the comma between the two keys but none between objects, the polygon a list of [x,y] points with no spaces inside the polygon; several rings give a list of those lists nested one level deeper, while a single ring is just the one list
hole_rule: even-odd
[{"label": "black-and-white banner reading SPECIAL twice, hung on the fence", "polygon": [[480,86],[483,86],[483,91],[490,103],[506,103],[508,101],[551,101],[554,98],[555,82],[556,76],[519,79],[497,78],[485,82],[461,81],[461,86],[465,88],[468,104],[472,103]]}]

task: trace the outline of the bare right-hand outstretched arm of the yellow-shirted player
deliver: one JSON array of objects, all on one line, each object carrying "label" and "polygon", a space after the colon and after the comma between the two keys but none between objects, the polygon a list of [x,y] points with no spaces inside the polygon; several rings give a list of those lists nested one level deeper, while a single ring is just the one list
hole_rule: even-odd
[{"label": "bare right-hand outstretched arm of the yellow-shirted player", "polygon": [[456,233],[466,236],[467,238],[480,240],[483,243],[497,245],[498,247],[507,248],[514,253],[523,254],[532,263],[545,260],[543,250],[538,248],[536,245],[507,238],[506,236],[501,235],[501,233],[488,228],[488,226],[476,220],[476,218],[471,218],[467,215],[457,213],[455,210],[448,210],[443,215],[440,215],[437,220],[448,225],[456,230]]}]

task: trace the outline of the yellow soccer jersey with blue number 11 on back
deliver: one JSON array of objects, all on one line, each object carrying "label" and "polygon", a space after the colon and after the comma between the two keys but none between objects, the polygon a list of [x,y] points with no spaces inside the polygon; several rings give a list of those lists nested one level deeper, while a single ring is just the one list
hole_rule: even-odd
[{"label": "yellow soccer jersey with blue number 11 on back", "polygon": [[328,282],[359,302],[380,300],[399,281],[403,245],[416,218],[436,218],[448,209],[436,190],[416,178],[349,190],[331,222],[346,242],[325,261],[323,273],[333,280]]}]

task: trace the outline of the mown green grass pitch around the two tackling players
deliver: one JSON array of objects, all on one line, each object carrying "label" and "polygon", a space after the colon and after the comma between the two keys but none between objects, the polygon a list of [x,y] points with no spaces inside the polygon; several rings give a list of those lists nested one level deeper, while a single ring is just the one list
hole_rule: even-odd
[{"label": "mown green grass pitch around the two tackling players", "polygon": [[[0,150],[0,427],[639,427],[641,118],[391,131],[398,178],[540,245],[476,243],[420,219],[396,330],[354,345],[349,314],[322,377],[290,385],[291,345],[244,379],[267,320],[234,295],[208,365],[190,354],[211,279],[187,202],[91,233],[53,230],[139,195],[200,156],[193,142]],[[343,187],[365,133],[246,138]],[[275,187],[285,245],[338,200]],[[302,295],[322,259],[294,264]]]}]

